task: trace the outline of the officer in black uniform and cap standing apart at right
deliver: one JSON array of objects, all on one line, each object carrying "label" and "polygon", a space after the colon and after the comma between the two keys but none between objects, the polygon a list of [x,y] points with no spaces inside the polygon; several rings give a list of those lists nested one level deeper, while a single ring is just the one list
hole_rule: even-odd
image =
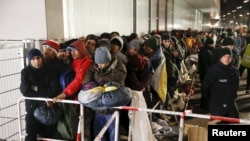
[{"label": "officer in black uniform and cap standing apart at right", "polygon": [[219,48],[219,61],[207,71],[201,85],[201,92],[209,102],[211,115],[239,118],[236,105],[239,88],[239,71],[232,64],[232,52]]}]

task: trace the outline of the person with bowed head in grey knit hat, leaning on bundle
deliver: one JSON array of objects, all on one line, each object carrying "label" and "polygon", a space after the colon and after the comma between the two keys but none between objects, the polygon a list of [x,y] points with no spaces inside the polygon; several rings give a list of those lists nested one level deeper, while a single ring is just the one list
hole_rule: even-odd
[{"label": "person with bowed head in grey knit hat, leaning on bundle", "polygon": [[[88,70],[83,84],[86,84],[88,82],[95,82],[100,86],[104,86],[104,84],[114,81],[115,83],[119,83],[121,86],[124,86],[124,81],[127,73],[126,67],[114,55],[111,55],[110,51],[107,48],[109,47],[102,46],[96,49],[95,63]],[[110,97],[110,99],[112,100],[112,97]],[[103,110],[98,108],[93,110],[95,112],[93,118],[93,135],[94,137],[96,137],[115,110]],[[113,121],[108,127],[108,135],[105,134],[105,136],[102,138],[102,141],[113,141],[115,137],[115,130],[115,121]]]}]

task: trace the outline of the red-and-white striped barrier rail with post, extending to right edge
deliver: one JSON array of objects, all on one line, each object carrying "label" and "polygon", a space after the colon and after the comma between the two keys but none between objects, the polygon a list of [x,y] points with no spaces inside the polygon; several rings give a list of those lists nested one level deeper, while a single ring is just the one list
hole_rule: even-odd
[{"label": "red-and-white striped barrier rail with post, extending to right edge", "polygon": [[144,112],[150,112],[150,113],[160,113],[160,114],[170,114],[170,115],[180,116],[178,141],[183,140],[184,117],[185,116],[186,117],[203,118],[203,119],[209,119],[209,120],[221,120],[221,121],[227,121],[227,122],[232,122],[232,123],[250,124],[250,120],[229,118],[229,117],[222,117],[222,116],[214,116],[214,115],[195,114],[195,113],[192,113],[190,110],[189,111],[186,110],[184,112],[175,112],[175,111],[167,111],[167,110],[143,109],[143,108],[130,107],[130,106],[120,106],[120,107],[113,107],[113,108],[121,109],[121,110],[129,110],[129,111],[144,111]]}]

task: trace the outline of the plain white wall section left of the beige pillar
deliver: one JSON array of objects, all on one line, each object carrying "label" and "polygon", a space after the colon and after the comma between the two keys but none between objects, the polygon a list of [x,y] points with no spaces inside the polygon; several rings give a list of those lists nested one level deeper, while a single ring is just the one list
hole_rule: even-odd
[{"label": "plain white wall section left of the beige pillar", "polygon": [[0,39],[46,39],[44,0],[1,0]]}]

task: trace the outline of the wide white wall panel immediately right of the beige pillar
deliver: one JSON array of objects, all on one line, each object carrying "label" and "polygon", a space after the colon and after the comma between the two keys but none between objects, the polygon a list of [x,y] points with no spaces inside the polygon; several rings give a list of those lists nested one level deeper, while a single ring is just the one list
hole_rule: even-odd
[{"label": "wide white wall panel immediately right of the beige pillar", "polygon": [[132,0],[64,0],[65,38],[118,31],[132,33]]}]

